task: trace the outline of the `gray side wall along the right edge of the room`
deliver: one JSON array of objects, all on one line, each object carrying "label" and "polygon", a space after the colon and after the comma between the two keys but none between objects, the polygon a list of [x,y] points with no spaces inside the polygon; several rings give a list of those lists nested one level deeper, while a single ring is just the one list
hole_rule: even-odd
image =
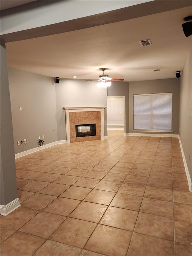
[{"label": "gray side wall along the right edge of the room", "polygon": [[[180,79],[179,136],[192,179],[192,46],[187,55]],[[190,160],[188,156],[190,156]]]}]

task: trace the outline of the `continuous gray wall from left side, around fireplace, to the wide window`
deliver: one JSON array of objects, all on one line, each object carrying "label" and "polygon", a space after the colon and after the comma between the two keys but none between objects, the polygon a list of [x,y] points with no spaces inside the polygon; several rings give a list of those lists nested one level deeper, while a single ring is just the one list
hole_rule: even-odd
[{"label": "continuous gray wall from left side, around fireplace, to the wide window", "polygon": [[[8,74],[15,153],[37,147],[38,136],[42,138],[45,135],[45,144],[66,140],[63,107],[106,106],[107,95],[125,96],[125,133],[132,133],[133,95],[173,92],[173,130],[174,134],[179,133],[179,79],[113,82],[106,92],[96,83],[80,79],[60,79],[59,84],[54,84],[53,78],[18,69],[9,68]],[[107,136],[106,109],[104,117]],[[24,139],[29,143],[18,146],[17,141]]]}]

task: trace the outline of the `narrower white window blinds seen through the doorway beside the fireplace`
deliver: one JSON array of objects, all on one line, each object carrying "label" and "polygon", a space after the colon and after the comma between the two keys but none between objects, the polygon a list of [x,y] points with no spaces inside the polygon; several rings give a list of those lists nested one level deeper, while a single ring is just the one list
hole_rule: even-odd
[{"label": "narrower white window blinds seen through the doorway beside the fireplace", "polygon": [[107,98],[107,125],[124,126],[123,98]]}]

